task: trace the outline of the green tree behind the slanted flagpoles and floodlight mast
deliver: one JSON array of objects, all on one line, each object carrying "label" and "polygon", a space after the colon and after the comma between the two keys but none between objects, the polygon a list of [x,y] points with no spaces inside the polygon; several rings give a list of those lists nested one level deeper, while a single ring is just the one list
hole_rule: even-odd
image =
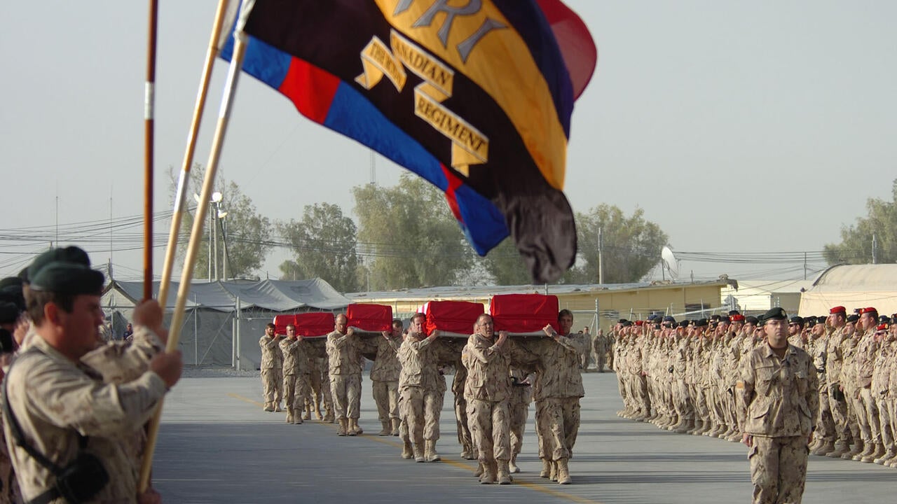
[{"label": "green tree behind the slanted flagpoles and floodlight mast", "polygon": [[[170,176],[170,201],[174,202],[175,192],[177,191],[177,178],[173,169],[169,171]],[[199,164],[195,164],[190,169],[190,184],[187,188],[187,195],[202,190],[203,178],[205,177],[205,168]],[[205,231],[203,233],[203,241],[196,255],[196,265],[194,266],[194,278],[209,278],[209,272],[213,268],[209,267],[209,243],[214,243],[211,238],[217,234],[217,259],[218,259],[218,277],[224,279],[224,265],[227,265],[227,278],[245,278],[255,276],[258,268],[265,261],[268,249],[266,243],[271,239],[271,222],[267,217],[258,213],[256,205],[252,203],[252,199],[242,193],[239,186],[233,181],[227,181],[218,178],[215,181],[215,190],[222,194],[222,200],[217,206],[212,206],[206,211]],[[194,205],[196,201],[187,196],[187,205]],[[221,210],[222,219],[215,219]],[[181,219],[181,237],[178,241],[178,256],[183,259],[187,256],[187,242],[189,241],[190,232],[193,229],[195,210],[184,213]],[[213,229],[210,229],[210,215],[213,222]],[[226,250],[226,256],[225,256]],[[212,258],[212,265],[215,264],[215,256]],[[211,275],[215,277],[214,272]]]}]

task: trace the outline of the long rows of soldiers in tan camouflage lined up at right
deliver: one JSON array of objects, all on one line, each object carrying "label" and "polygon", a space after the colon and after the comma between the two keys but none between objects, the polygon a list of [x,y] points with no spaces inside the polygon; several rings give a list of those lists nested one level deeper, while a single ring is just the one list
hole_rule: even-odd
[{"label": "long rows of soldiers in tan camouflage lined up at right", "polygon": [[[854,312],[848,316],[839,306],[826,316],[788,320],[781,308],[760,319],[737,312],[679,322],[660,316],[621,319],[610,336],[624,404],[618,415],[745,444],[747,437],[803,437],[798,451],[808,444],[815,456],[897,467],[897,316],[880,317],[875,308]],[[776,347],[779,331],[784,343]],[[773,357],[776,351],[783,353]],[[806,369],[798,370],[801,366]],[[785,395],[809,388],[808,395],[786,397],[785,405],[777,405],[773,399],[781,400],[782,394],[775,387],[791,377],[794,390]],[[758,397],[766,403],[758,403]],[[806,426],[778,416],[792,410],[802,411],[795,418],[806,419]],[[749,446],[753,474],[756,444]],[[801,472],[799,464],[788,467]],[[758,478],[755,501],[775,501]],[[790,491],[799,500],[803,479]],[[779,494],[785,499],[779,501],[795,495],[784,496],[781,489]]]}]

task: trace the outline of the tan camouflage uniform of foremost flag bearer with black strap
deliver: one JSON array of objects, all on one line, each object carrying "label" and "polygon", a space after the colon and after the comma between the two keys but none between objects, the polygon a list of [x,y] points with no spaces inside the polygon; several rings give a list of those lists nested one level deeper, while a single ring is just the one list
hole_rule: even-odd
[{"label": "tan camouflage uniform of foremost flag bearer with black strap", "polygon": [[[100,351],[123,352],[127,358],[139,354],[124,348]],[[110,377],[130,378],[124,369],[113,364],[106,372]],[[146,362],[136,369],[146,369]],[[74,364],[37,337],[7,376],[9,404],[32,447],[57,465],[65,466],[74,459],[80,435],[88,438],[85,451],[98,456],[109,474],[109,483],[94,501],[133,502],[139,473],[134,451],[140,439],[138,431],[152,417],[166,386],[152,371],[118,385],[103,383],[102,377],[86,364]],[[8,425],[4,425],[4,433],[22,495],[34,499],[53,486],[56,477],[24,449],[13,446]]]}]

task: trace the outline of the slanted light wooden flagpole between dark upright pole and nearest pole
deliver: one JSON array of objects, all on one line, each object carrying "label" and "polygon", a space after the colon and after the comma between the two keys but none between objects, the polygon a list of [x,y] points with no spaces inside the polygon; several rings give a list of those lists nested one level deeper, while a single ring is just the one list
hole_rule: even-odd
[{"label": "slanted light wooden flagpole between dark upright pole and nearest pole", "polygon": [[190,183],[193,154],[196,152],[196,136],[199,134],[199,125],[202,122],[203,112],[205,111],[205,97],[208,94],[209,81],[212,78],[212,65],[218,56],[218,39],[221,37],[224,15],[227,13],[229,3],[229,0],[219,0],[218,2],[218,10],[215,12],[215,21],[212,25],[212,37],[209,39],[209,48],[205,52],[205,65],[203,66],[203,74],[200,77],[199,91],[196,92],[196,106],[193,109],[193,121],[190,123],[190,131],[187,134],[187,151],[184,152],[184,164],[181,165],[178,190],[174,196],[174,212],[171,214],[168,248],[165,250],[165,263],[162,265],[162,279],[159,284],[158,300],[163,309],[168,302],[171,270],[174,267],[175,255],[178,251],[180,223],[184,216],[184,202],[187,197],[187,187]]}]

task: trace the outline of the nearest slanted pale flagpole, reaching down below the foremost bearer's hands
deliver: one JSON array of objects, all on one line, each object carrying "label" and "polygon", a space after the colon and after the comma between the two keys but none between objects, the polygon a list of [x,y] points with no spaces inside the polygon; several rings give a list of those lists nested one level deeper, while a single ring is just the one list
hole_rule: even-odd
[{"label": "nearest slanted pale flagpole, reaching down below the foremost bearer's hands", "polygon": [[[240,67],[243,65],[243,56],[246,53],[246,42],[247,35],[241,30],[237,30],[234,33],[231,67],[228,70],[221,109],[219,109],[218,112],[218,124],[215,128],[215,135],[212,141],[212,152],[209,153],[209,161],[205,169],[203,191],[199,196],[200,202],[209,201],[212,196],[215,174],[218,172],[218,160],[221,157],[222,146],[224,144],[224,134],[227,131],[228,121],[231,116],[231,103],[233,101],[233,95],[237,90],[237,78],[239,76]],[[205,214],[208,209],[209,205],[207,204],[200,204],[196,208],[196,218],[193,221],[193,230],[190,232],[190,242],[187,244],[187,257],[184,260],[184,270],[180,276],[178,301],[175,304],[174,313],[171,317],[166,352],[173,352],[178,349],[180,327],[184,322],[184,308],[187,305],[187,296],[190,293],[190,282],[193,279],[193,267],[196,265],[196,254],[199,251],[199,242],[203,239],[203,224],[205,223]],[[156,413],[152,416],[152,421],[150,421],[146,446],[144,447],[143,465],[141,465],[140,479],[137,482],[138,493],[143,493],[149,486],[150,470],[152,469],[152,455],[155,451],[156,438],[159,435],[159,421],[161,420],[162,405],[163,402],[160,401],[159,406],[156,408]]]}]

